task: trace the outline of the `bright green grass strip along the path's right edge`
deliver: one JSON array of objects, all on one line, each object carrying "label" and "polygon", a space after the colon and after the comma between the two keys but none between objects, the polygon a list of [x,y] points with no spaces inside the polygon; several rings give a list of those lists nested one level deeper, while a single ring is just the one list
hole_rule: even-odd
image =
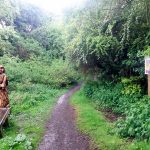
[{"label": "bright green grass strip along the path's right edge", "polygon": [[94,105],[90,103],[90,100],[84,96],[82,91],[73,95],[71,103],[75,106],[78,114],[78,128],[91,138],[91,149],[94,149],[93,145],[97,145],[97,148],[100,150],[150,149],[150,144],[147,142],[129,142],[112,133],[114,124],[106,121],[103,114],[95,109]]}]

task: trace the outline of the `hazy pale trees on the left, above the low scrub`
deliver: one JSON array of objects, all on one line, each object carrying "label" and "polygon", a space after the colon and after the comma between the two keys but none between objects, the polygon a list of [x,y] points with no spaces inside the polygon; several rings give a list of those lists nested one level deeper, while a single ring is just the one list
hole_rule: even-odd
[{"label": "hazy pale trees on the left, above the low scrub", "polygon": [[1,1],[0,7],[5,9],[0,10],[0,56],[9,53],[22,60],[33,55],[49,60],[63,56],[62,33],[51,16],[18,0]]}]

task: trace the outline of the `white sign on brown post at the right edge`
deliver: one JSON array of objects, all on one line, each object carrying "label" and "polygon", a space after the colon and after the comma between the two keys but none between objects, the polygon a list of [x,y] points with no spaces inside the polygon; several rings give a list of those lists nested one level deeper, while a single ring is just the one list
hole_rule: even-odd
[{"label": "white sign on brown post at the right edge", "polygon": [[145,57],[145,74],[148,77],[148,96],[150,96],[150,57]]}]

